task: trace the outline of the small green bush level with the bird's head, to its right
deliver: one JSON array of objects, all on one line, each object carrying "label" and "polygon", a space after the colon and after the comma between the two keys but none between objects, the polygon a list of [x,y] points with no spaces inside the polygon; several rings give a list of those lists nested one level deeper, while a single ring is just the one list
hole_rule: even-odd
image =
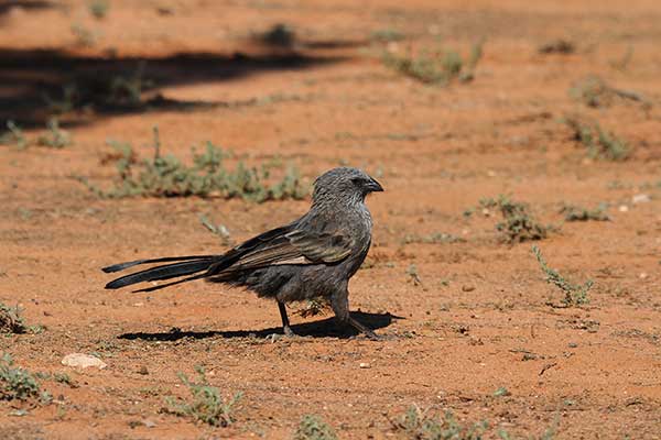
[{"label": "small green bush level with the bird's head, to its right", "polygon": [[551,227],[539,223],[529,212],[528,205],[511,200],[505,195],[497,199],[486,198],[479,201],[483,209],[498,209],[503,221],[496,224],[508,243],[520,243],[530,240],[543,240]]}]

